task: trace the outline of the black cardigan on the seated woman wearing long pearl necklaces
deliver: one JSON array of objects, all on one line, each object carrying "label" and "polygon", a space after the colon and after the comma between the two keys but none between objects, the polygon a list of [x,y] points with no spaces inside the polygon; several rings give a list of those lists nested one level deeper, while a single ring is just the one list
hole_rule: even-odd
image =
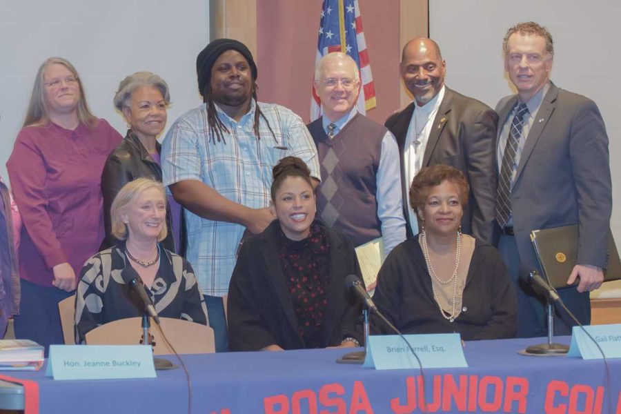
[{"label": "black cardigan on the seated woman wearing long pearl necklaces", "polygon": [[[517,297],[509,272],[493,246],[476,240],[462,313],[449,322],[433,299],[418,236],[393,249],[377,275],[373,301],[402,333],[460,333],[462,339],[500,339],[515,335]],[[464,311],[465,309],[465,311]],[[373,333],[393,334],[380,319],[371,318]]]}]

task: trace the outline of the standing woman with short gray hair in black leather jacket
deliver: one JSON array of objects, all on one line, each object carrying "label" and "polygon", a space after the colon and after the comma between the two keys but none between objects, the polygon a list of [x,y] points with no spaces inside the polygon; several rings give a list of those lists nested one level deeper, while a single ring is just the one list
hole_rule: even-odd
[{"label": "standing woman with short gray hair in black leather jacket", "polygon": [[[112,151],[101,174],[103,221],[106,237],[99,250],[117,244],[112,235],[110,206],[125,184],[139,177],[161,181],[160,145],[157,136],[166,126],[166,108],[170,103],[168,85],[152,72],[136,72],[121,81],[115,95],[115,108],[125,117],[128,131],[125,139]],[[161,244],[179,251],[181,206],[168,197],[166,226],[172,229]],[[175,248],[177,246],[177,248]]]}]

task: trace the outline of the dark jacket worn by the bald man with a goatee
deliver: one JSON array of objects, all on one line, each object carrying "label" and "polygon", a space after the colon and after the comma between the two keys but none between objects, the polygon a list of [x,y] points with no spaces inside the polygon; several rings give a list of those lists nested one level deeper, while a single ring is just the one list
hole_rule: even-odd
[{"label": "dark jacket worn by the bald man with a goatee", "polygon": [[[403,152],[414,103],[386,120],[399,146],[401,178],[406,182]],[[423,157],[423,166],[446,164],[461,170],[470,184],[470,195],[462,219],[462,231],[485,242],[493,242],[497,175],[494,152],[497,115],[484,103],[445,87],[433,129]],[[409,186],[412,183],[408,183]],[[408,192],[404,190],[404,215],[408,237],[412,237],[408,217]]]}]

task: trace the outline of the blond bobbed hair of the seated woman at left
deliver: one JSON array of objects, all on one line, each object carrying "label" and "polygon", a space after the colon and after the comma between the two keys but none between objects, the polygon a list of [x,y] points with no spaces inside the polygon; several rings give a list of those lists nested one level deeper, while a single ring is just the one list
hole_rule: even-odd
[{"label": "blond bobbed hair of the seated woman at left", "polygon": [[[112,201],[110,207],[110,219],[112,221],[112,235],[119,240],[126,240],[128,237],[127,224],[124,223],[122,215],[127,213],[127,210],[135,199],[139,197],[144,191],[151,188],[157,188],[161,193],[161,196],[166,201],[166,192],[164,192],[164,186],[161,182],[154,179],[140,177],[134,181],[130,181],[121,188],[117,197]],[[161,228],[159,235],[157,235],[157,241],[161,242],[166,239],[168,235],[168,228],[166,228],[166,220],[164,220],[164,226]]]}]

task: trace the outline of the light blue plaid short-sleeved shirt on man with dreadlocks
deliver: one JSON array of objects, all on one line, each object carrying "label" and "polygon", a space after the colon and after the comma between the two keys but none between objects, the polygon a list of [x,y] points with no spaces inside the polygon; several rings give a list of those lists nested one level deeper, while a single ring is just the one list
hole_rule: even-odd
[{"label": "light blue plaid short-sleeved shirt on man with dreadlocks", "polygon": [[[272,167],[283,157],[301,158],[311,169],[311,175],[318,178],[317,148],[302,119],[283,106],[258,104],[275,137],[261,117],[261,139],[257,139],[253,128],[254,100],[239,122],[217,108],[219,119],[229,130],[223,131],[226,144],[210,137],[205,103],[181,115],[161,147],[164,186],[194,179],[238,204],[263,208],[270,203]],[[186,259],[195,270],[199,287],[206,295],[226,295],[235,267],[237,246],[246,228],[241,224],[204,219],[185,211]]]}]

